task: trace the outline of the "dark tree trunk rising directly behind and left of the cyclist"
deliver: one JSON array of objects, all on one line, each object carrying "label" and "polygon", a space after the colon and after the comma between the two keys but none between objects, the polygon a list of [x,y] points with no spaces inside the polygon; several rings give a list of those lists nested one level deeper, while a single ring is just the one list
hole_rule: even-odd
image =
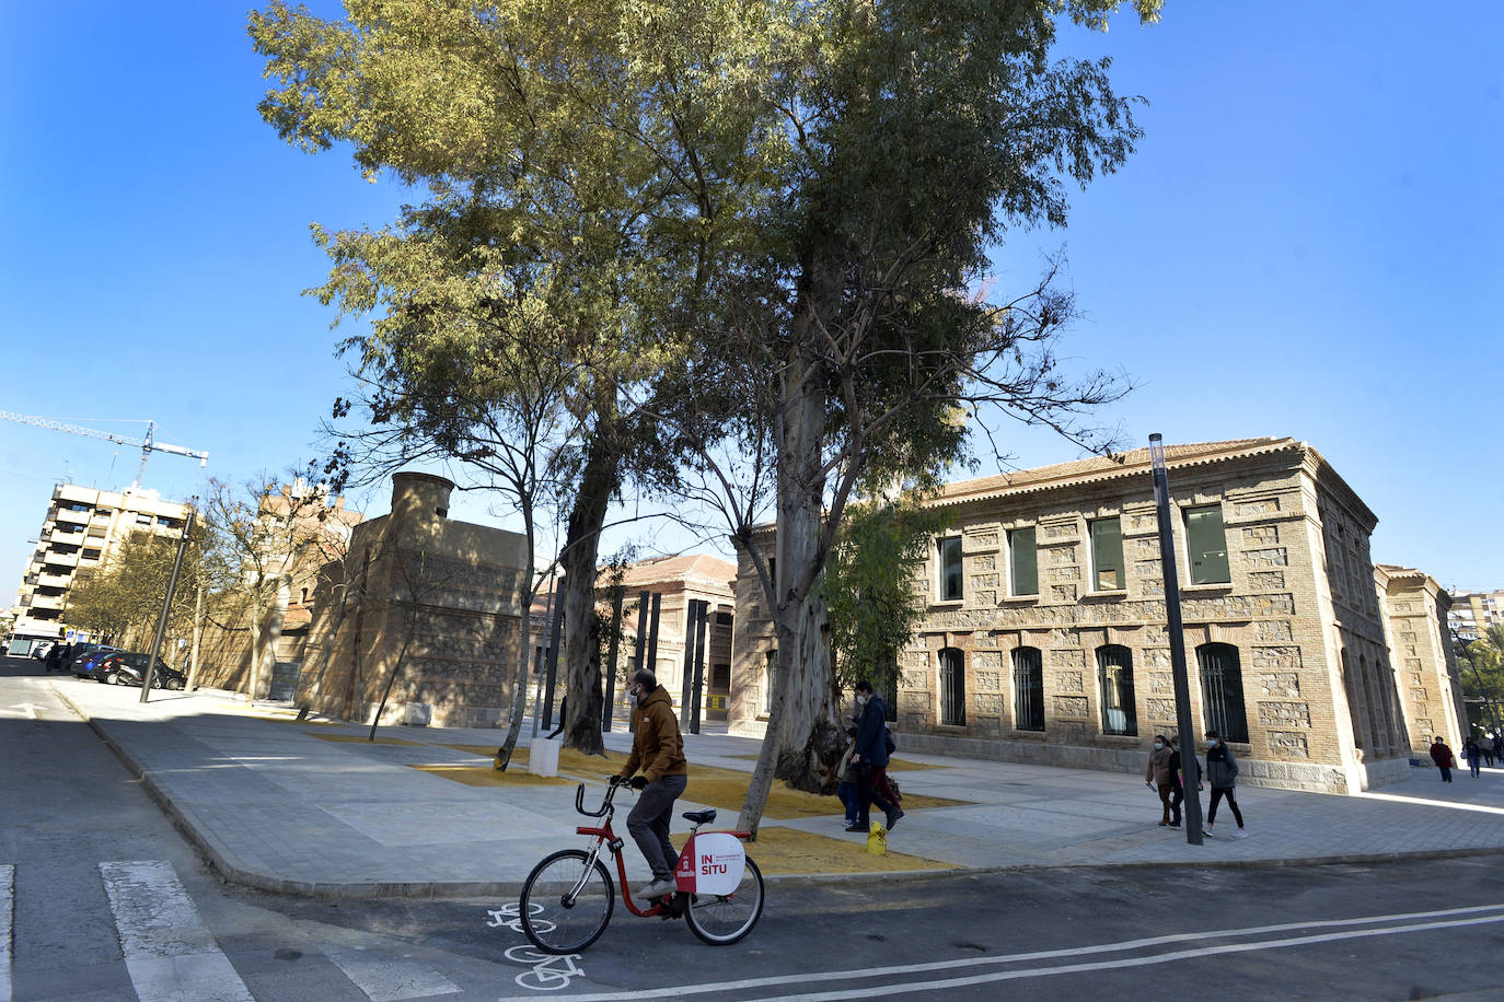
[{"label": "dark tree trunk rising directly behind and left of the cyclist", "polygon": [[564,566],[564,747],[602,754],[600,711],[605,696],[600,679],[600,632],[596,625],[596,560],[600,529],[620,484],[621,455],[609,431],[591,439],[575,508],[569,517],[561,563]]}]

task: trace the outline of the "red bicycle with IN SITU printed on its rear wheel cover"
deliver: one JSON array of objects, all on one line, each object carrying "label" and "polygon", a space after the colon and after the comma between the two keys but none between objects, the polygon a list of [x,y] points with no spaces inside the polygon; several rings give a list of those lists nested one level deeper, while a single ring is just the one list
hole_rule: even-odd
[{"label": "red bicycle with IN SITU printed on its rear wheel cover", "polygon": [[575,954],[600,939],[617,904],[611,873],[600,859],[603,849],[617,858],[621,901],[633,915],[683,915],[695,936],[713,946],[734,943],[750,933],[763,915],[763,871],[741,847],[741,840],[750,832],[699,834],[701,825],[716,820],[714,808],[683,814],[693,828],[674,870],[674,894],[665,894],[647,907],[632,901],[627,864],[621,856],[626,843],[611,831],[617,810],[612,799],[623,786],[612,781],[600,808],[587,811],[585,784],[579,784],[575,810],[605,822],[575,829],[590,835],[590,849],[556,852],[528,874],[517,907],[528,940],[549,954]]}]

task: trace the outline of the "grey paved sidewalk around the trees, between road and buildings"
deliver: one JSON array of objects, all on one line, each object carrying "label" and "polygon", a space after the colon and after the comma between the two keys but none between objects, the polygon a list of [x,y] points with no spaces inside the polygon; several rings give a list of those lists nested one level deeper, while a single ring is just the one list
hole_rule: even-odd
[{"label": "grey paved sidewalk around the trees, between road and buildings", "polygon": [[[444,745],[495,747],[499,730],[387,727],[384,736],[415,744],[335,742],[314,735],[367,729],[298,724],[289,711],[250,708],[244,697],[212,690],[153,691],[143,705],[140,690],[80,679],[51,685],[214,865],[250,886],[335,897],[511,895],[541,856],[581,841],[569,786],[471,787],[411,768],[475,766],[484,759]],[[528,735],[531,724],[519,747]],[[757,741],[723,733],[686,735],[684,742],[690,772],[695,765],[750,771],[758,750]],[[626,751],[630,735],[612,732],[606,745]],[[1184,831],[1157,825],[1158,798],[1139,777],[899,754],[932,766],[898,772],[907,792],[969,801],[910,810],[889,835],[890,850],[935,861],[931,873],[1358,862],[1504,850],[1504,769],[1484,769],[1474,780],[1463,768],[1451,784],[1435,769],[1415,769],[1405,783],[1360,796],[1239,786],[1250,835],[1223,834],[1233,829],[1223,805],[1218,837],[1190,846]],[[599,777],[581,778],[596,781],[587,801],[599,802]],[[681,799],[680,807],[699,804]],[[827,817],[763,820],[764,831],[775,826],[865,841],[842,831],[835,798]],[[681,828],[678,822],[675,831]],[[645,880],[632,847],[627,859],[630,879]],[[863,865],[874,861],[863,856]],[[770,882],[853,876],[764,871]]]}]

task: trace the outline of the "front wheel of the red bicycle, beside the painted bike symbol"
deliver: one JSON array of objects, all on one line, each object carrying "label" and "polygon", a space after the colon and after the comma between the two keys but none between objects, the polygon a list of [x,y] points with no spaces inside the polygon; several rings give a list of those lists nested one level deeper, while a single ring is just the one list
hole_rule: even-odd
[{"label": "front wheel of the red bicycle, beside the painted bike symbol", "polygon": [[532,867],[517,915],[528,942],[546,954],[575,954],[600,939],[617,906],[611,874],[590,853],[566,849]]}]

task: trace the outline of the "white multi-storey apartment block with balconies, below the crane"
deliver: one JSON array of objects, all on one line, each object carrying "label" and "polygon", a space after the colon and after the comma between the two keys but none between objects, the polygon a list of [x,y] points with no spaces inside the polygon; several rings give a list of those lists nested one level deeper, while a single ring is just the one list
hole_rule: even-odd
[{"label": "white multi-storey apartment block with balconies, below the crane", "polygon": [[17,593],[12,634],[38,640],[66,637],[72,629],[68,593],[80,572],[104,566],[135,533],[176,536],[186,515],[186,505],[162,500],[156,491],[101,491],[77,484],[54,487],[36,550]]}]

